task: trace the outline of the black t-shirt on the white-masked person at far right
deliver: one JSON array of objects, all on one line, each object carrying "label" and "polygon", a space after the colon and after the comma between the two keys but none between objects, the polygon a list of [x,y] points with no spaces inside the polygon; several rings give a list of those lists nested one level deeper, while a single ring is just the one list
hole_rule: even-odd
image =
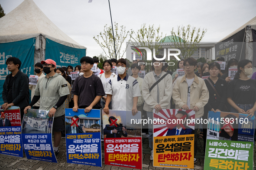
[{"label": "black t-shirt on the white-masked person at far right", "polygon": [[254,104],[256,101],[256,80],[231,80],[227,85],[227,98],[235,104]]}]

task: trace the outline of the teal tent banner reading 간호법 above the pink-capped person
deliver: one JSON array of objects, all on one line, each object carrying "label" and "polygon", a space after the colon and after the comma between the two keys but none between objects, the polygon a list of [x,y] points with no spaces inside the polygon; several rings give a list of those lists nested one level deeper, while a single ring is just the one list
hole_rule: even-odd
[{"label": "teal tent banner reading \uac04\ud638\ubc95 above the pink-capped person", "polygon": [[86,54],[86,49],[68,47],[50,39],[46,41],[45,60],[52,59],[57,67],[67,67],[80,65],[81,57]]}]

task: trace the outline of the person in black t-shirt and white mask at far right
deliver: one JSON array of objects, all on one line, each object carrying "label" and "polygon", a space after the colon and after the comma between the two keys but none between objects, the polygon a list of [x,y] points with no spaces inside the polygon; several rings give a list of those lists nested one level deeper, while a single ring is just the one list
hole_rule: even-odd
[{"label": "person in black t-shirt and white mask at far right", "polygon": [[241,60],[233,80],[228,83],[227,101],[231,105],[230,112],[256,114],[256,80],[250,79],[253,65],[250,60]]}]

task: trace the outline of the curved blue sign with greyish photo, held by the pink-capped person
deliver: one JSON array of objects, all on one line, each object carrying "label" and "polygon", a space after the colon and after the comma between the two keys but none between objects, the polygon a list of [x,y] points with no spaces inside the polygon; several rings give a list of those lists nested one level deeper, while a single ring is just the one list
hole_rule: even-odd
[{"label": "curved blue sign with greyish photo, held by the pink-capped person", "polygon": [[48,110],[27,110],[22,121],[22,142],[28,159],[57,163],[52,146],[53,117],[48,113]]}]

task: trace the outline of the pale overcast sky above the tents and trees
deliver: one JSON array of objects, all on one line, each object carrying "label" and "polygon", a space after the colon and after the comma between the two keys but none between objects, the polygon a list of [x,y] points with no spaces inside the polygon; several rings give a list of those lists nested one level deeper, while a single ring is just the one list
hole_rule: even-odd
[{"label": "pale overcast sky above the tents and trees", "polygon": [[[23,0],[0,0],[10,13]],[[65,34],[87,47],[87,56],[103,52],[94,41],[104,25],[111,25],[108,0],[34,0],[43,13]],[[172,27],[191,24],[207,28],[204,42],[217,42],[256,16],[256,0],[110,0],[113,22],[136,31],[143,23]],[[125,44],[123,44],[125,45]]]}]

